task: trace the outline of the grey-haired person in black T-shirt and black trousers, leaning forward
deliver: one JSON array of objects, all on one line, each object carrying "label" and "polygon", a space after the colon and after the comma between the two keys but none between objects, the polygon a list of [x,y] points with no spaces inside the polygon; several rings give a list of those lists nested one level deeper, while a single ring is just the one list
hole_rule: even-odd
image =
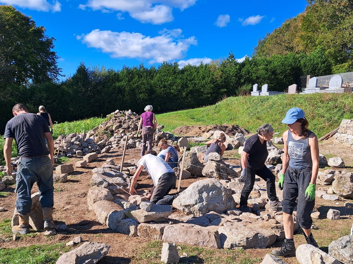
[{"label": "grey-haired person in black T-shirt and black trousers, leaning forward", "polygon": [[241,171],[240,180],[245,181],[243,190],[241,190],[239,210],[243,212],[251,212],[251,208],[247,206],[255,183],[255,175],[260,176],[267,181],[267,195],[270,199],[270,206],[273,210],[281,210],[281,202],[276,196],[275,175],[266,167],[265,161],[268,156],[267,141],[273,137],[273,128],[270,124],[262,125],[257,129],[257,134],[249,137],[241,152]]}]

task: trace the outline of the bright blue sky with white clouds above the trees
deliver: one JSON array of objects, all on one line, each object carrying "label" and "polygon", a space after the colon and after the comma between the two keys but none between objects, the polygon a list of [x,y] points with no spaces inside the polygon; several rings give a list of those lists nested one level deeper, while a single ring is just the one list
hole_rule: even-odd
[{"label": "bright blue sky with white clouds above the trees", "polygon": [[80,62],[187,64],[251,56],[266,32],[305,9],[305,0],[0,0],[29,15],[56,41],[62,74]]}]

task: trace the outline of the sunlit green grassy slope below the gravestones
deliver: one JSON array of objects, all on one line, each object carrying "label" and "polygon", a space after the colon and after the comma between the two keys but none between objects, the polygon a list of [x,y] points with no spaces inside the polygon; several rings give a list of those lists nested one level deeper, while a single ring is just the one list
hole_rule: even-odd
[{"label": "sunlit green grassy slope below the gravestones", "polygon": [[237,124],[250,132],[270,123],[276,132],[287,126],[281,121],[289,108],[305,111],[309,128],[318,137],[338,127],[342,119],[353,119],[353,94],[282,94],[229,97],[215,105],[156,115],[165,131],[182,125]]}]

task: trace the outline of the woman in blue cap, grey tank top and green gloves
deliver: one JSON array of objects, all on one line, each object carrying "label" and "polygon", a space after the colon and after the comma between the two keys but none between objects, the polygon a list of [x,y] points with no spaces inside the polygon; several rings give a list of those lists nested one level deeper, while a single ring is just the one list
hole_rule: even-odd
[{"label": "woman in blue cap, grey tank top and green gloves", "polygon": [[292,214],[295,206],[297,222],[303,228],[306,242],[318,247],[311,233],[311,212],[315,205],[319,146],[315,133],[308,129],[309,122],[305,119],[302,109],[289,109],[282,123],[288,125],[288,130],[283,133],[285,155],[278,186],[283,190],[282,211],[286,238],[282,247],[272,253],[282,257],[294,257]]}]

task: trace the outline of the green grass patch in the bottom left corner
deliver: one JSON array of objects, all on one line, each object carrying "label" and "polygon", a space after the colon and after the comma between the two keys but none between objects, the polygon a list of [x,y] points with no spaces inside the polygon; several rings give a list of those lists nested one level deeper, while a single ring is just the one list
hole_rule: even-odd
[{"label": "green grass patch in the bottom left corner", "polygon": [[29,247],[17,247],[12,249],[0,249],[1,264],[31,263],[54,264],[62,252],[69,249],[65,243],[55,245],[32,245]]}]

